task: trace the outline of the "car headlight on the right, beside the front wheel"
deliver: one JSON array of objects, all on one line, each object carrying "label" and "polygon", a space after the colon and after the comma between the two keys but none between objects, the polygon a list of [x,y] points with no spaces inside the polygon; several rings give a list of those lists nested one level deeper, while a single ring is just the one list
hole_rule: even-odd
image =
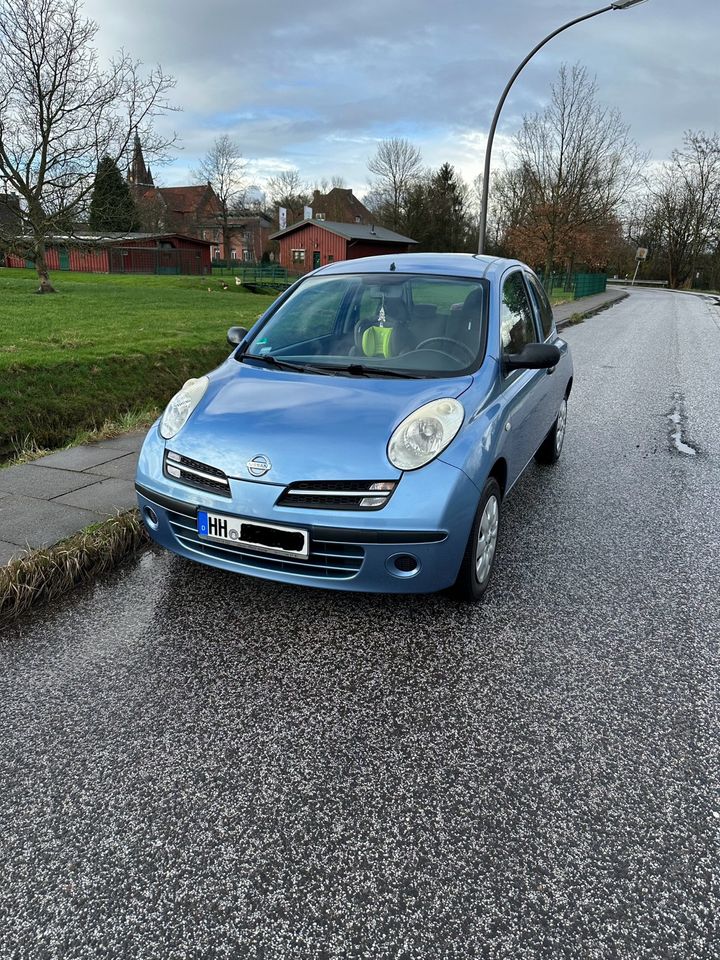
[{"label": "car headlight on the right, beside the front wheel", "polygon": [[463,405],[451,397],[426,403],[396,427],[388,443],[388,460],[398,470],[424,467],[442,453],[464,418]]}]

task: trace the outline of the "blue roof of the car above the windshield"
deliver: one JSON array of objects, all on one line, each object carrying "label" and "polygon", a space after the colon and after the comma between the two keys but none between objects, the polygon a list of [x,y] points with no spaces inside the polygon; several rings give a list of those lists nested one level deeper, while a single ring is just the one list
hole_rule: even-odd
[{"label": "blue roof of the car above the windshield", "polygon": [[[394,264],[394,266],[393,266]],[[508,267],[525,267],[519,260],[477,253],[395,253],[357,260],[338,260],[313,271],[313,276],[343,273],[425,273],[440,277],[497,279]],[[527,269],[527,268],[526,268]]]}]

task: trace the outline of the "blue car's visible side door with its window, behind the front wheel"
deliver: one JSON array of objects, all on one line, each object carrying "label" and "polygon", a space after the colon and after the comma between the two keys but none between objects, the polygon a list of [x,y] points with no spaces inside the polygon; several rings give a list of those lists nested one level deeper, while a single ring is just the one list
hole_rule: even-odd
[{"label": "blue car's visible side door with its window, behind the front wheel", "polygon": [[509,433],[505,444],[509,486],[522,473],[548,432],[549,427],[544,428],[544,405],[550,378],[546,370],[507,373],[502,361],[508,354],[521,353],[528,343],[538,342],[535,311],[523,271],[518,267],[505,274],[500,291],[500,376],[505,406],[504,430]]}]

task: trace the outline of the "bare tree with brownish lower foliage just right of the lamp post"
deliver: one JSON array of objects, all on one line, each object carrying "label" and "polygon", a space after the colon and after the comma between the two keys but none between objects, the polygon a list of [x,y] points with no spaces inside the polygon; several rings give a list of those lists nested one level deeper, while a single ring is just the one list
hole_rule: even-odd
[{"label": "bare tree with brownish lower foliage just right of the lamp post", "polygon": [[584,67],[560,68],[547,108],[524,118],[515,153],[515,169],[498,182],[509,245],[547,272],[601,257],[647,158],[619,111],[598,102]]}]

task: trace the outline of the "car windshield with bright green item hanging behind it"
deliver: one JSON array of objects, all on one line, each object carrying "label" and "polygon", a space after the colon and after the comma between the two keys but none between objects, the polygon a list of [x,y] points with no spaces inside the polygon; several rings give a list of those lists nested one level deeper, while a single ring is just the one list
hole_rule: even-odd
[{"label": "car windshield with bright green item hanging behind it", "polygon": [[487,281],[420,274],[309,277],[238,360],[364,376],[458,376],[485,349]]}]

